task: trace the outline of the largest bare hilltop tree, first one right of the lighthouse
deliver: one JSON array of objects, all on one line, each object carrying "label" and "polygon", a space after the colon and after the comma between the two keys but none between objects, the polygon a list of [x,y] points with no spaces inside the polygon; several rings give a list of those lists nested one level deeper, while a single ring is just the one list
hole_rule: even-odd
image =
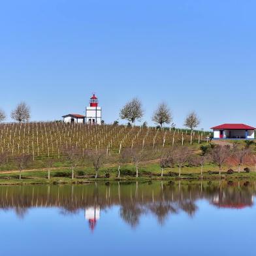
[{"label": "largest bare hilltop tree, first one right of the lighthouse", "polygon": [[120,118],[131,121],[132,123],[135,123],[136,120],[141,120],[142,116],[142,103],[137,98],[134,98],[129,103],[126,103],[120,111]]}]

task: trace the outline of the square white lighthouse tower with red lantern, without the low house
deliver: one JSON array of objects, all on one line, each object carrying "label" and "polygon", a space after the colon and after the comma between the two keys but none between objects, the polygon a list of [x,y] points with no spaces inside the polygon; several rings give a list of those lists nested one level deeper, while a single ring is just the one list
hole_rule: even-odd
[{"label": "square white lighthouse tower with red lantern, without the low house", "polygon": [[101,107],[98,98],[93,94],[86,107],[86,123],[89,125],[101,125]]}]

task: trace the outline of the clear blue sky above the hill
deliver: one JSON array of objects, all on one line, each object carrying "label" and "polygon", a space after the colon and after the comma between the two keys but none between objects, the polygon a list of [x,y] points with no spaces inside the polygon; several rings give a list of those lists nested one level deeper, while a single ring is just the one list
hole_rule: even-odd
[{"label": "clear blue sky above the hill", "polygon": [[[91,92],[103,120],[139,97],[151,123],[169,104],[176,126],[256,125],[256,2],[8,0],[0,3],[0,108],[20,101],[32,120],[84,114]],[[10,118],[8,118],[10,121]]]}]

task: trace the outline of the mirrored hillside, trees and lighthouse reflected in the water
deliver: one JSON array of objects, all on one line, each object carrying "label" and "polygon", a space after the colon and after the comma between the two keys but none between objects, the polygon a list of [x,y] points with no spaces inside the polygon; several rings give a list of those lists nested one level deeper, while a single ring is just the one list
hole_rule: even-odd
[{"label": "mirrored hillside, trees and lighthouse reflected in the water", "polygon": [[120,217],[135,228],[144,215],[154,216],[160,225],[167,217],[185,212],[193,217],[197,201],[207,200],[217,208],[242,209],[254,204],[255,182],[149,182],[86,185],[1,186],[0,208],[15,210],[24,218],[29,208],[60,208],[61,214],[84,210],[91,231],[101,211],[120,207]]}]

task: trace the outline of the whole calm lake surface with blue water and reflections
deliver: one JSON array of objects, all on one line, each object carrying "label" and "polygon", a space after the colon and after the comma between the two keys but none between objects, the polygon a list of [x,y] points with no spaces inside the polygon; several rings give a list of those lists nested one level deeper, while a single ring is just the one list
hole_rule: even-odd
[{"label": "whole calm lake surface with blue water and reflections", "polygon": [[1,255],[255,255],[255,187],[2,186]]}]

